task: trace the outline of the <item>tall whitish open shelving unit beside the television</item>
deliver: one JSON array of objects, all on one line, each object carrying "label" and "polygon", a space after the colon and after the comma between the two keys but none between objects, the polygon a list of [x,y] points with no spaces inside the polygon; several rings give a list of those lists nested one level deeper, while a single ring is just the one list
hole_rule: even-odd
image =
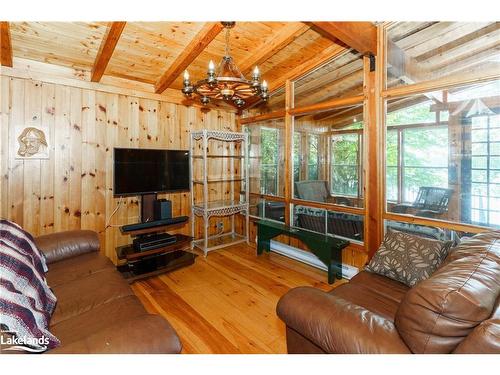
[{"label": "tall whitish open shelving unit beside the television", "polygon": [[[196,155],[196,147],[201,142],[202,154]],[[209,142],[229,143],[229,154],[209,154]],[[239,143],[239,154],[236,154],[235,144]],[[203,237],[195,239],[192,244],[203,251],[205,256],[209,251],[220,249],[237,243],[248,243],[249,229],[249,193],[248,193],[248,134],[237,132],[226,132],[219,130],[200,130],[191,132],[190,138],[191,155],[191,233],[195,236],[195,218],[203,219]],[[229,162],[229,175],[224,177],[210,177],[208,160],[216,158],[227,159]],[[194,176],[195,161],[202,163],[202,176]],[[239,174],[235,175],[235,163],[240,164]],[[235,191],[235,182],[240,183],[240,191]],[[209,184],[230,184],[230,199],[214,200],[209,198]],[[243,186],[241,185],[243,184]],[[203,185],[203,199],[196,202],[194,185]],[[235,215],[245,216],[245,234],[236,233]],[[217,235],[209,234],[209,220],[213,216],[231,216],[231,231]]]}]

